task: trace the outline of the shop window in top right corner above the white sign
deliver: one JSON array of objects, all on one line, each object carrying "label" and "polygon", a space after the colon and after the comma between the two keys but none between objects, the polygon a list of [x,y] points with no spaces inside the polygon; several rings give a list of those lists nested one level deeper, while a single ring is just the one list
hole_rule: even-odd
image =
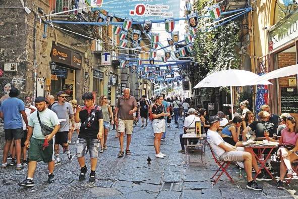
[{"label": "shop window in top right corner above the white sign", "polygon": [[285,6],[283,3],[283,0],[276,0],[275,10],[274,10],[274,24],[276,24],[281,19],[291,14],[297,8],[298,6],[295,3]]}]

